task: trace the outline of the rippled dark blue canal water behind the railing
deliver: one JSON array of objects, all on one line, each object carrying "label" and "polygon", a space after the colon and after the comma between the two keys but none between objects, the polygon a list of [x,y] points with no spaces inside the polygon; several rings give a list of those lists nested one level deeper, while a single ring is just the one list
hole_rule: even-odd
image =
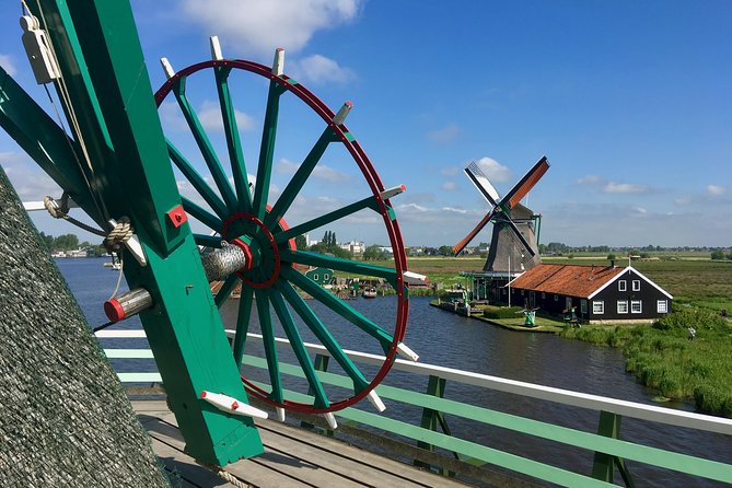
[{"label": "rippled dark blue canal water behind the railing", "polygon": [[[115,287],[117,272],[102,266],[102,259],[59,259],[59,269],[69,282],[91,326],[106,321],[102,303]],[[125,283],[123,280],[123,289]],[[492,327],[478,321],[462,317],[429,306],[429,298],[409,300],[409,325],[405,344],[420,355],[420,362],[439,364],[465,371],[566,388],[582,393],[603,395],[625,400],[651,404],[654,393],[639,385],[625,373],[621,351],[577,340],[567,340],[550,334],[515,333]],[[322,306],[309,301],[313,310],[338,338],[346,349],[379,352],[379,346],[353,326]],[[355,309],[385,328],[393,327],[396,298],[350,301]],[[222,314],[223,315],[223,314]],[[251,332],[258,332],[258,319],[253,314]],[[230,324],[233,326],[233,324]],[[115,325],[115,328],[141,328],[137,318]],[[307,330],[302,330],[305,340],[312,340]],[[283,334],[278,334],[283,337]],[[146,347],[139,339],[115,339],[103,341],[103,347]],[[247,346],[247,353],[257,355],[257,347]],[[287,360],[287,353],[282,356]],[[332,361],[333,363],[333,361]],[[129,368],[129,362],[113,365]],[[154,363],[140,361],[132,367],[138,371],[154,371]],[[367,371],[368,373],[368,371]],[[265,380],[262,373],[251,375]],[[415,379],[400,372],[392,372],[385,383],[426,391],[427,379]],[[549,402],[523,398],[516,395],[486,391],[449,382],[445,397],[469,403],[484,408],[519,415],[565,427],[595,432],[599,414],[581,408]],[[387,403],[387,413],[399,420],[419,422],[421,410],[396,403]],[[689,404],[667,405],[670,408],[693,410]],[[578,473],[590,474],[592,453],[565,446],[553,441],[503,429],[477,425],[448,416],[455,435],[500,449],[527,458],[546,462]],[[732,463],[732,440],[721,434],[699,432],[690,429],[623,419],[621,438],[665,450]],[[652,468],[638,463],[628,463],[636,486],[649,487],[717,487],[729,486]],[[619,479],[619,476],[618,476]]]}]

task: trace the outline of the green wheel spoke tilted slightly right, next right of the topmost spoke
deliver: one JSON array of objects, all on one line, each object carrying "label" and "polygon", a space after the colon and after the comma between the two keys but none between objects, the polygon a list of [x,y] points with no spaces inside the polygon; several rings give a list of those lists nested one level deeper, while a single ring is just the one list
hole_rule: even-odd
[{"label": "green wheel spoke tilted slightly right, next right of the topmost spoke", "polygon": [[252,212],[263,220],[269,196],[269,181],[272,174],[272,158],[275,155],[275,140],[277,138],[277,119],[279,116],[280,95],[283,89],[275,81],[269,83],[267,109],[262,131],[262,147],[259,148],[259,164],[257,165],[257,181],[254,187]]}]

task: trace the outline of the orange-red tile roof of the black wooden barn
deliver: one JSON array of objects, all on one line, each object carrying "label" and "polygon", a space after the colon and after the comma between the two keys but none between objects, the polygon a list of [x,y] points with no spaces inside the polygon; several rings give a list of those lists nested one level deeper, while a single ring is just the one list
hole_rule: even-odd
[{"label": "orange-red tile roof of the black wooden barn", "polygon": [[511,288],[589,298],[625,268],[580,265],[537,265],[511,281]]}]

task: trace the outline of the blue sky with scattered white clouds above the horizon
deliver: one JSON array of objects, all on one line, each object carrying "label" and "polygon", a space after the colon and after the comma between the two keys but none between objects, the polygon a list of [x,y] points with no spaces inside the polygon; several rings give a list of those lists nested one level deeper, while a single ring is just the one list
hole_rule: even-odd
[{"label": "blue sky with scattered white clouds above the horizon", "polygon": [[[164,81],[160,57],[175,69],[208,59],[216,34],[229,58],[269,65],[283,47],[286,73],[334,111],[352,101],[347,125],[385,186],[407,185],[393,204],[408,245],[452,245],[483,217],[487,205],[462,173],[470,161],[503,194],[544,154],[551,167],[526,202],[544,216],[544,243],[732,245],[729,1],[132,7],[153,86]],[[46,103],[21,50],[19,15],[19,4],[0,7],[0,63]],[[220,143],[213,84],[196,89],[194,105]],[[266,86],[243,79],[241,89],[245,156],[256,161]],[[166,104],[163,125],[187,148],[181,115]],[[283,111],[272,198],[319,130],[297,103]],[[4,133],[0,164],[23,199],[58,196]],[[352,161],[337,151],[311,179],[287,216],[291,224],[367,195]],[[47,233],[83,235],[46,216],[34,220]],[[311,237],[325,230],[339,241],[386,242],[373,213]],[[490,226],[474,243],[489,240]]]}]

